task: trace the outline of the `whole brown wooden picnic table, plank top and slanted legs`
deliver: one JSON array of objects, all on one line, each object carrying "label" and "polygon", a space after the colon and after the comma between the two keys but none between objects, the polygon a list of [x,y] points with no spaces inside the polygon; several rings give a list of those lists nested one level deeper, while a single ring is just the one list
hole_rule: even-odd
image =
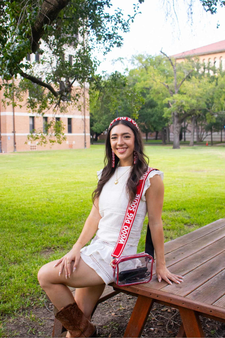
[{"label": "whole brown wooden picnic table, plank top and slanted legs", "polygon": [[225,218],[165,243],[166,266],[184,276],[181,284],[159,283],[155,274],[146,284],[115,291],[137,296],[124,337],[140,337],[154,302],[179,309],[177,337],[204,337],[199,315],[225,322]]}]

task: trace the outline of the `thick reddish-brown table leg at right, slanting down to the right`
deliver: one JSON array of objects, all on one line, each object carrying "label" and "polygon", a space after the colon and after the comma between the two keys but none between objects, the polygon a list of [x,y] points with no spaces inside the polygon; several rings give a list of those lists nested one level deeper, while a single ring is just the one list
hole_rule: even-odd
[{"label": "thick reddish-brown table leg at right, slanting down to the right", "polygon": [[197,311],[178,307],[187,337],[205,337]]}]

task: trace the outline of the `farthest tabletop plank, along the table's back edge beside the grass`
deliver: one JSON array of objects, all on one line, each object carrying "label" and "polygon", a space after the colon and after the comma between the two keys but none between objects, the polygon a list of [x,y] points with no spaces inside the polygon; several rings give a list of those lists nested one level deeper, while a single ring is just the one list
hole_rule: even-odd
[{"label": "farthest tabletop plank, along the table's back edge beside the grass", "polygon": [[184,244],[191,243],[196,239],[203,237],[213,231],[219,229],[220,227],[225,225],[225,218],[218,219],[217,221],[205,225],[197,230],[192,231],[189,234],[178,237],[170,242],[165,243],[165,254],[182,247]]}]

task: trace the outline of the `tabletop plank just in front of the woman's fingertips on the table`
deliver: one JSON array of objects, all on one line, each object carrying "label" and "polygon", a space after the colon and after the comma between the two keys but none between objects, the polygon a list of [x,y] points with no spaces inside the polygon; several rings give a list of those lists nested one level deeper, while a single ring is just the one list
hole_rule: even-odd
[{"label": "tabletop plank just in front of the woman's fingertips on the table", "polygon": [[195,270],[185,275],[184,281],[181,284],[168,285],[161,291],[169,292],[179,296],[187,296],[190,292],[197,289],[210,278],[225,269],[225,251],[214,257],[212,260],[202,264]]}]

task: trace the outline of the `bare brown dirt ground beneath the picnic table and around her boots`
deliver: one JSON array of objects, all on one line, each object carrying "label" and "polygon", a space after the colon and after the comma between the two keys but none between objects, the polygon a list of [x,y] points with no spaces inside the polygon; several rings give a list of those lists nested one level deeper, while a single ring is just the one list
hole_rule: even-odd
[{"label": "bare brown dirt ground beneath the picnic table and around her boots", "polygon": [[[118,294],[100,304],[92,322],[98,337],[123,337],[136,297]],[[5,318],[6,337],[51,337],[54,323],[53,305],[32,307]],[[206,337],[224,337],[225,323],[201,318]],[[145,324],[142,337],[176,337],[181,323],[178,310],[155,304]]]}]

